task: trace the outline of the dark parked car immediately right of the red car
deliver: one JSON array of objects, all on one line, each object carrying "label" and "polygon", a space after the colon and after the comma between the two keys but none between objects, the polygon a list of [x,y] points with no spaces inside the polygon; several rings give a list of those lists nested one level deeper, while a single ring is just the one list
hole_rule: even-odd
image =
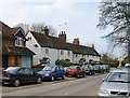
[{"label": "dark parked car immediately right of the red car", "polygon": [[95,74],[92,65],[82,65],[81,67],[84,70],[86,74],[89,74],[89,75]]}]

